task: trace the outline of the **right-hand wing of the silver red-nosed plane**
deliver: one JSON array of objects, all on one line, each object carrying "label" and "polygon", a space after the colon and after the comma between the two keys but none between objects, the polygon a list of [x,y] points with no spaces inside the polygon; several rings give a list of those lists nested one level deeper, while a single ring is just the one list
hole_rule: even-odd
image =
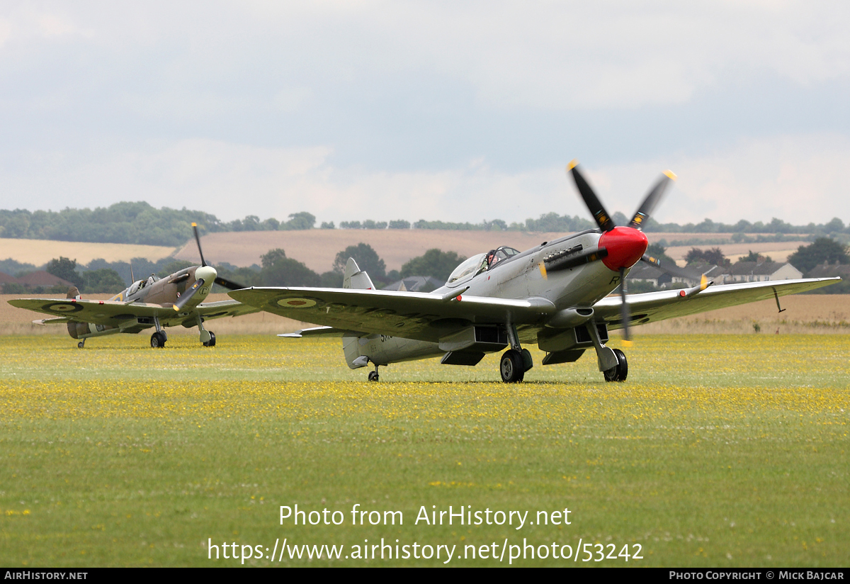
[{"label": "right-hand wing of the silver red-nosed plane", "polygon": [[[841,278],[741,282],[723,286],[710,286],[689,298],[683,298],[680,295],[681,290],[630,294],[626,296],[626,302],[632,315],[631,324],[643,325],[656,320],[695,315],[736,304],[773,300],[777,296],[807,292],[839,281],[841,281]],[[593,311],[595,315],[607,322],[609,328],[622,327],[619,297],[603,298],[593,305]]]}]

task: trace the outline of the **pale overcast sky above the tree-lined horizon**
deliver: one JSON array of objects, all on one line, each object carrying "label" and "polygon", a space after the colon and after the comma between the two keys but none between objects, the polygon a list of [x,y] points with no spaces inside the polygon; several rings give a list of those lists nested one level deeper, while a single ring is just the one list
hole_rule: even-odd
[{"label": "pale overcast sky above the tree-lined horizon", "polygon": [[850,221],[850,3],[0,4],[0,208]]}]

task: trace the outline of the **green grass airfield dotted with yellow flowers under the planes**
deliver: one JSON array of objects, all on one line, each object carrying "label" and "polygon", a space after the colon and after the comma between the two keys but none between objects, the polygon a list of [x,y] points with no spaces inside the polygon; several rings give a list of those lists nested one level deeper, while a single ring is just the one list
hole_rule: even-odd
[{"label": "green grass airfield dotted with yellow flowers under the planes", "polygon": [[[383,538],[456,546],[447,565],[507,565],[528,544],[549,557],[512,565],[846,566],[848,337],[636,341],[626,383],[604,383],[592,352],[544,367],[534,351],[507,385],[498,355],[368,383],[338,340],[0,337],[0,564],[242,565],[208,559],[208,538],[258,550],[245,565],[445,562],[362,558]],[[344,522],[281,525],[296,503]],[[358,503],[404,524],[353,525]],[[529,513],[520,529],[414,524],[450,505]],[[537,524],[565,507],[570,524]],[[284,538],[344,551],[266,558]],[[501,561],[463,558],[506,540]],[[552,558],[553,542],[578,559]],[[643,558],[617,558],[624,546]]]}]

